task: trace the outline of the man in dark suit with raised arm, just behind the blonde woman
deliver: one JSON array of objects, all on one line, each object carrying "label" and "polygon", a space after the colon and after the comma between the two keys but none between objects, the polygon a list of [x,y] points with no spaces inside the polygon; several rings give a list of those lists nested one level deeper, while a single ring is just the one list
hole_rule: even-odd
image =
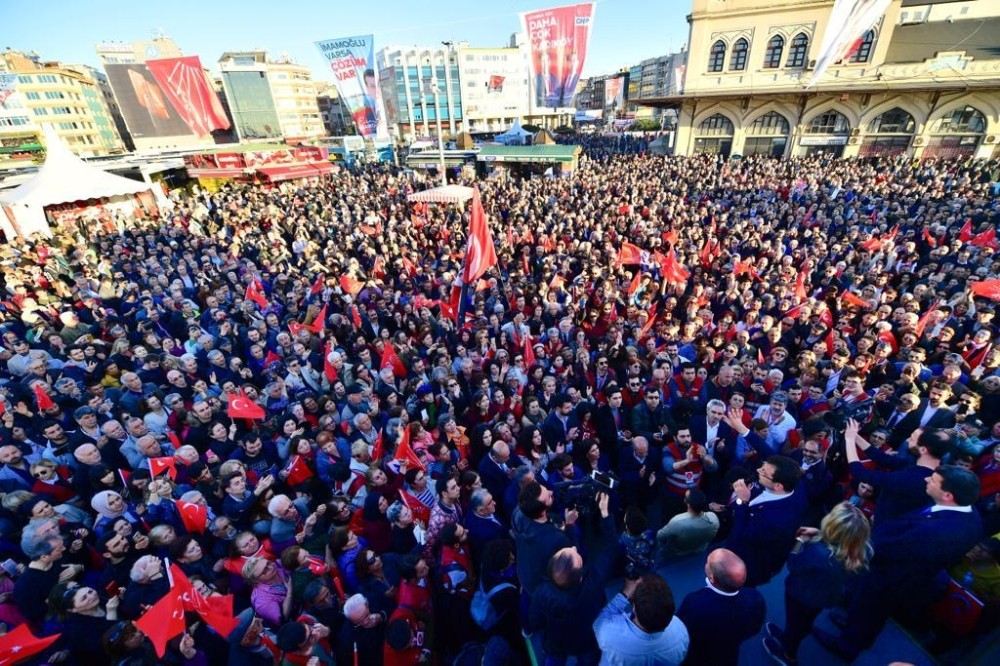
[{"label": "man in dark suit with raised arm, just behind the blonde woman", "polygon": [[[856,421],[848,421],[844,448],[851,477],[873,486],[878,492],[875,503],[875,529],[894,518],[924,508],[930,503],[926,480],[952,448],[952,438],[944,430],[924,430],[910,435],[909,455],[889,455],[871,446],[858,434]],[[883,469],[867,469],[858,457],[858,449]],[[916,463],[912,462],[916,460]]]}]

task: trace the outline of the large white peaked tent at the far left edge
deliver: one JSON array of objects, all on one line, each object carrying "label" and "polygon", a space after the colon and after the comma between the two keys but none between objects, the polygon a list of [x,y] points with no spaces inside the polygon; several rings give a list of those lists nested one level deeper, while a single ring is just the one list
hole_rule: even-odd
[{"label": "large white peaked tent at the far left edge", "polygon": [[0,214],[0,228],[7,238],[33,233],[51,235],[45,207],[74,201],[131,197],[151,192],[149,183],[123,178],[87,164],[73,154],[56,133],[42,126],[45,136],[45,163],[34,178],[0,195],[5,211]]}]

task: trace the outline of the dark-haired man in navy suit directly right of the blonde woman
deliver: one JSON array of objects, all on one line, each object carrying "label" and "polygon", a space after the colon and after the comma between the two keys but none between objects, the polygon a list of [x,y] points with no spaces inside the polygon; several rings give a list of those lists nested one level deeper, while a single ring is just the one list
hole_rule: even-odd
[{"label": "dark-haired man in navy suit directly right of the blonde woman", "polygon": [[973,504],[979,479],[972,472],[942,465],[927,478],[933,504],[873,533],[874,556],[858,581],[840,636],[813,629],[817,640],[853,661],[870,646],[895,612],[919,616],[943,591],[940,576],[979,541],[983,528]]}]

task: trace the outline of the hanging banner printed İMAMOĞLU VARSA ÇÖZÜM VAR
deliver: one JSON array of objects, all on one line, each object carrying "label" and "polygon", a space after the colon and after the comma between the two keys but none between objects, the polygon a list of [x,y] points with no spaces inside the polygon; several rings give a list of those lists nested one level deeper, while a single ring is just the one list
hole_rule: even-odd
[{"label": "hanging banner printed \u0130MAMO\u011eLU VARSA \u00c7\u00d6Z\u00dcM VAR", "polygon": [[337,92],[347,103],[358,133],[366,138],[388,136],[375,73],[374,35],[328,39],[316,46],[330,61]]}]

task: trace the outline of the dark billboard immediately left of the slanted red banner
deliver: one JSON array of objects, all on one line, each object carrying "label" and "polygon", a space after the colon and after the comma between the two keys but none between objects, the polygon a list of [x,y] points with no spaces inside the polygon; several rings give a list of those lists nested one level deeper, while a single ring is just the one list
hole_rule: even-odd
[{"label": "dark billboard immediately left of the slanted red banner", "polygon": [[104,67],[133,138],[194,134],[145,64],[107,64]]}]

